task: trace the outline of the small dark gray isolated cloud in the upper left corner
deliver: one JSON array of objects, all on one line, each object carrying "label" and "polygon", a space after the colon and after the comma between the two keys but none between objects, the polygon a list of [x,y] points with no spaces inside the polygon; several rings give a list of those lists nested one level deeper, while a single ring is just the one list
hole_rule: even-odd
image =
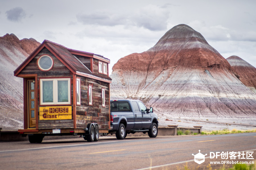
[{"label": "small dark gray isolated cloud in the upper left corner", "polygon": [[21,7],[12,8],[11,10],[6,11],[5,14],[8,20],[14,22],[21,21],[22,18],[26,17],[26,13]]}]

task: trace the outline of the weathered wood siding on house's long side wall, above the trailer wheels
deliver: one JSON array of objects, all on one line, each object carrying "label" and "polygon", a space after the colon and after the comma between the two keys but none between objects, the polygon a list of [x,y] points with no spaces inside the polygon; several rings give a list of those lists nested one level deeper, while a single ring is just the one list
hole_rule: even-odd
[{"label": "weathered wood siding on house's long side wall, above the trailer wheels", "polygon": [[[88,123],[98,123],[99,129],[109,129],[109,83],[81,78],[81,106],[76,107],[77,128]],[[88,85],[92,85],[92,106],[89,106]],[[106,107],[102,107],[102,88],[105,88]]]}]

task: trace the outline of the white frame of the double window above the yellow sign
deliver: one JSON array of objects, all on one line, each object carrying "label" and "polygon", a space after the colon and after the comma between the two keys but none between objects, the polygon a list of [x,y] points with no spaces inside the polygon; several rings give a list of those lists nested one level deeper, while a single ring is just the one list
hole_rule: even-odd
[{"label": "white frame of the double window above the yellow sign", "polygon": [[[43,102],[43,81],[53,81],[53,102]],[[58,102],[58,81],[68,81],[68,102]],[[70,78],[40,79],[40,105],[70,104]]]}]

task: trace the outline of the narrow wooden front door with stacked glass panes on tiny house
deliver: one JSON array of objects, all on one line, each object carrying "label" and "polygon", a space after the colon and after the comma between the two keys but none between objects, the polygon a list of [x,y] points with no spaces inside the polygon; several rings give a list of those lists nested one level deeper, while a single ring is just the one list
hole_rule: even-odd
[{"label": "narrow wooden front door with stacked glass panes on tiny house", "polygon": [[35,88],[33,80],[28,80],[28,128],[36,128]]}]

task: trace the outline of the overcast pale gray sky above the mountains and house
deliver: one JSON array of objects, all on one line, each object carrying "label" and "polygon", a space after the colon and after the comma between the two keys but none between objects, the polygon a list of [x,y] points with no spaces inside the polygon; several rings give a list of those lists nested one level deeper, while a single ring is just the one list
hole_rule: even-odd
[{"label": "overcast pale gray sky above the mountains and house", "polygon": [[0,1],[0,36],[48,39],[110,59],[153,47],[178,24],[200,32],[225,58],[237,55],[256,67],[253,0],[8,0]]}]

